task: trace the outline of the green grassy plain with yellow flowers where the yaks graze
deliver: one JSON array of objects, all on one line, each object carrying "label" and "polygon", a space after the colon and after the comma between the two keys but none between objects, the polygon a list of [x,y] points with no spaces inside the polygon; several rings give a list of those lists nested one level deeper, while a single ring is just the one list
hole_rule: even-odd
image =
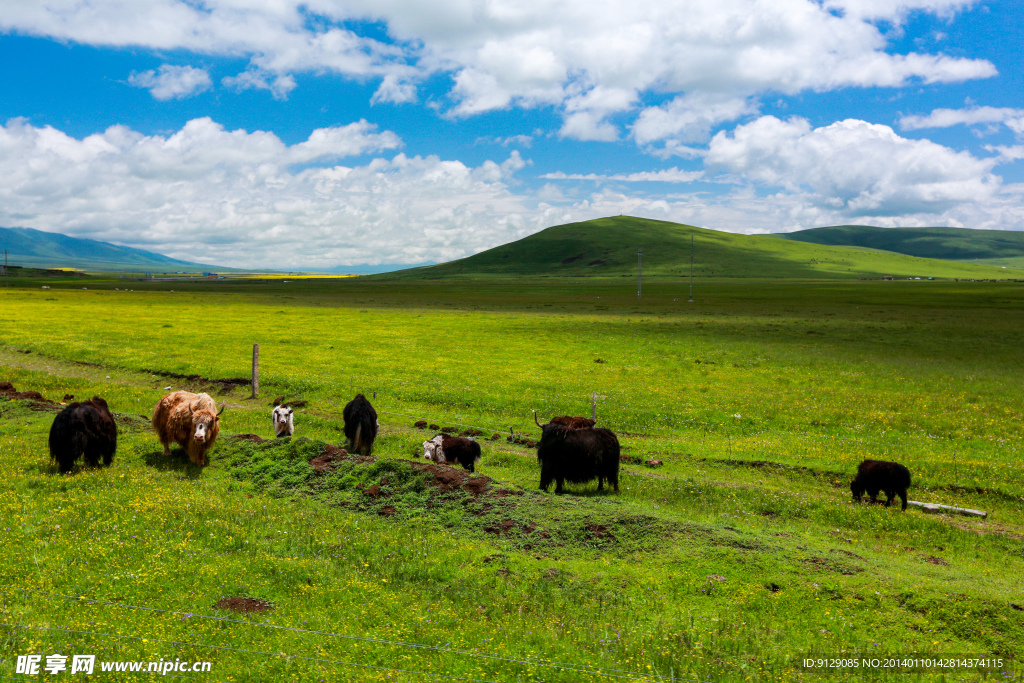
[{"label": "green grassy plain with yellow flowers where the yaks graze", "polygon": [[[212,659],[209,680],[769,681],[808,677],[811,652],[1024,643],[1024,284],[701,280],[693,304],[670,279],[640,302],[618,279],[83,284],[0,292],[0,380],[144,415],[166,386],[217,389],[155,372],[241,379],[258,342],[261,397],[218,395],[224,431],[269,437],[270,398],[309,403],[300,438],[224,437],[202,471],[124,417],[112,468],[58,477],[52,413],[0,402],[3,667],[67,649]],[[377,392],[378,460],[317,474],[356,391]],[[504,439],[480,473],[521,495],[439,492],[404,462],[419,418],[536,434],[531,410],[595,392],[624,454],[664,461],[625,465],[618,496],[536,492]],[[990,516],[853,505],[865,457]],[[225,596],[274,609],[206,618],[240,618]]]}]

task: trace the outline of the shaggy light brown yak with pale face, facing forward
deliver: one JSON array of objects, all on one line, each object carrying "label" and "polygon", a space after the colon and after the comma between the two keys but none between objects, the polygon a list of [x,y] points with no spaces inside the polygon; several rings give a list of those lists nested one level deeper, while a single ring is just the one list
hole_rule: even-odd
[{"label": "shaggy light brown yak with pale face, facing forward", "polygon": [[161,398],[153,410],[153,428],[164,445],[164,456],[171,455],[171,442],[175,441],[188,454],[189,461],[200,467],[206,465],[206,452],[220,432],[220,413],[213,398],[205,393],[174,391]]}]

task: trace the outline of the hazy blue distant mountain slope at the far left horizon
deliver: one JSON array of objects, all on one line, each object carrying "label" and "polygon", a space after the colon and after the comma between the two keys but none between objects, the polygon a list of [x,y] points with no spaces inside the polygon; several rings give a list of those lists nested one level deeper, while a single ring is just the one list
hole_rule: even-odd
[{"label": "hazy blue distant mountain slope at the far left horizon", "polygon": [[163,254],[118,247],[108,242],[71,238],[31,227],[0,227],[0,258],[8,252],[11,265],[87,270],[226,270],[208,263],[181,261]]}]

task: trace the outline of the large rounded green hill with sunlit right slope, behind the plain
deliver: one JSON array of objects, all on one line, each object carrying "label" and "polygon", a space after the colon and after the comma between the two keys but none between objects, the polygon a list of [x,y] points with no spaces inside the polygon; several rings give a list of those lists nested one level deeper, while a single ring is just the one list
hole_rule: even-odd
[{"label": "large rounded green hill with sunlit right slope, behind the plain", "polygon": [[693,274],[698,278],[1024,276],[1024,267],[1000,269],[861,247],[719,232],[632,216],[555,225],[457,261],[376,276],[636,276],[637,250],[643,249],[645,278],[683,278],[689,273],[691,238]]}]

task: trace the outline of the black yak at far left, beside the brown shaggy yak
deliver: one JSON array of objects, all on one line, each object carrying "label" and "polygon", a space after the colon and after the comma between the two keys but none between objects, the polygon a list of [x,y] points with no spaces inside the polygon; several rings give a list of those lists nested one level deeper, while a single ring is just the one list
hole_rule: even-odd
[{"label": "black yak at far left, beside the brown shaggy yak", "polygon": [[71,472],[78,457],[85,455],[88,467],[99,467],[114,460],[118,450],[118,425],[99,396],[72,403],[60,411],[50,426],[50,460],[61,473]]}]

